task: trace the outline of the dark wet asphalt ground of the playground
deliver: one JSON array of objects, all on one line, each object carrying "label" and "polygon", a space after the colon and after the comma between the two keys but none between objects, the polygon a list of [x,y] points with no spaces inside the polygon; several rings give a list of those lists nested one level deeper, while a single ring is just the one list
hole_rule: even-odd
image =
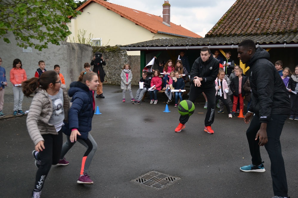
[{"label": "dark wet asphalt ground of the playground", "polygon": [[[135,95],[137,87],[133,87]],[[242,172],[251,163],[246,139],[249,125],[238,118],[218,114],[214,134],[204,132],[204,100],[195,102],[195,113],[180,133],[174,130],[179,113],[174,103],[163,112],[166,96],[149,104],[149,94],[134,105],[126,93],[122,102],[120,86],[103,86],[104,99],[96,98],[99,115],[94,115],[91,134],[98,149],[89,168],[93,185],[77,183],[86,149],[80,143],[66,154],[67,166],[53,165],[41,197],[90,198],[271,198],[274,196],[270,160],[264,147],[261,156],[266,172]],[[187,99],[187,96],[184,96]],[[13,117],[13,96],[5,95],[0,118],[0,197],[31,197],[37,168],[34,149],[26,127],[26,115]],[[31,99],[25,98],[23,111]],[[11,112],[10,112],[11,111]],[[298,197],[298,121],[286,120],[281,135],[288,190]],[[64,136],[65,139],[65,136]],[[149,173],[150,172],[150,173]],[[141,177],[142,176],[142,177]],[[152,184],[152,185],[151,185]]]}]

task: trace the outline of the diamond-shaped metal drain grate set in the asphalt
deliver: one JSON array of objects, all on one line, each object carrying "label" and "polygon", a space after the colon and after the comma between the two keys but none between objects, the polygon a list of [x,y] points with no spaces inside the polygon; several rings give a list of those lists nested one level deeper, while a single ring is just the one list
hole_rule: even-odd
[{"label": "diamond-shaped metal drain grate set in the asphalt", "polygon": [[136,179],[131,180],[134,183],[139,183],[144,186],[160,190],[164,187],[172,185],[174,182],[179,180],[179,177],[173,177],[157,171],[150,171],[145,175],[142,175]]}]

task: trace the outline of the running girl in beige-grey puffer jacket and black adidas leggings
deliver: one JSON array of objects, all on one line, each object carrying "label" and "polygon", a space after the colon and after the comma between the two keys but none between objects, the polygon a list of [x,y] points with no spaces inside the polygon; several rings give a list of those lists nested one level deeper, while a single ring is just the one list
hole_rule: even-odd
[{"label": "running girl in beige-grey puffer jacket and black adidas leggings", "polygon": [[35,166],[38,168],[32,197],[40,197],[52,164],[60,158],[63,120],[67,121],[69,100],[65,85],[55,71],[46,71],[40,78],[22,83],[23,93],[35,92],[27,116],[27,129],[34,142]]}]

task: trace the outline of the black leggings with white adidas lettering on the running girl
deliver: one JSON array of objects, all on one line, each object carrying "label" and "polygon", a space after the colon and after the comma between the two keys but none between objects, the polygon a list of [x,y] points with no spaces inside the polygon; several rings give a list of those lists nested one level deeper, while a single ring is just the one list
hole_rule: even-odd
[{"label": "black leggings with white adidas lettering on the running girl", "polygon": [[42,135],[44,138],[44,150],[40,151],[38,155],[38,159],[41,160],[41,165],[36,172],[35,191],[41,191],[51,166],[58,164],[63,143],[62,134],[60,130],[58,135]]}]

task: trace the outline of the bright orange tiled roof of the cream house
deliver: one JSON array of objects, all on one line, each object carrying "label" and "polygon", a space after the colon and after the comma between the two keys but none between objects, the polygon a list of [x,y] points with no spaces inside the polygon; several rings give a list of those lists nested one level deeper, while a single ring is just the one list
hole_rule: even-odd
[{"label": "bright orange tiled roof of the cream house", "polygon": [[[132,8],[120,6],[117,4],[112,4],[106,1],[102,0],[89,0],[86,1],[83,5],[77,8],[77,10],[83,11],[83,9],[88,6],[91,2],[98,3],[104,7],[106,7],[109,10],[112,10],[113,12],[116,12],[121,17],[127,18],[128,20],[131,20],[136,25],[142,26],[152,33],[162,33],[162,34],[171,34],[181,37],[189,37],[189,38],[202,38],[200,35],[195,34],[194,32],[183,28],[182,26],[176,25],[174,23],[171,23],[170,27],[167,25],[164,25],[162,23],[162,17],[152,15],[146,12],[142,12],[139,10],[135,10]],[[148,3],[150,3],[148,1]],[[160,9],[162,11],[162,4],[160,5]]]}]

